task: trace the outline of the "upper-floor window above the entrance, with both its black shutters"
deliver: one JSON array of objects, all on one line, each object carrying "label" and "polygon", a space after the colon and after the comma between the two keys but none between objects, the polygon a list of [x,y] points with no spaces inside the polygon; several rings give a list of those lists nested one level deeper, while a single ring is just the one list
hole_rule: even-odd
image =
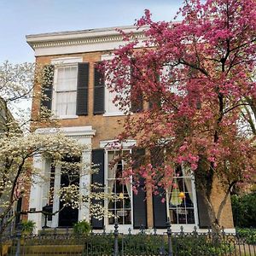
[{"label": "upper-floor window above the entrance, with both its black shutters", "polygon": [[57,118],[88,114],[89,63],[82,58],[58,58],[44,67],[41,106]]}]

